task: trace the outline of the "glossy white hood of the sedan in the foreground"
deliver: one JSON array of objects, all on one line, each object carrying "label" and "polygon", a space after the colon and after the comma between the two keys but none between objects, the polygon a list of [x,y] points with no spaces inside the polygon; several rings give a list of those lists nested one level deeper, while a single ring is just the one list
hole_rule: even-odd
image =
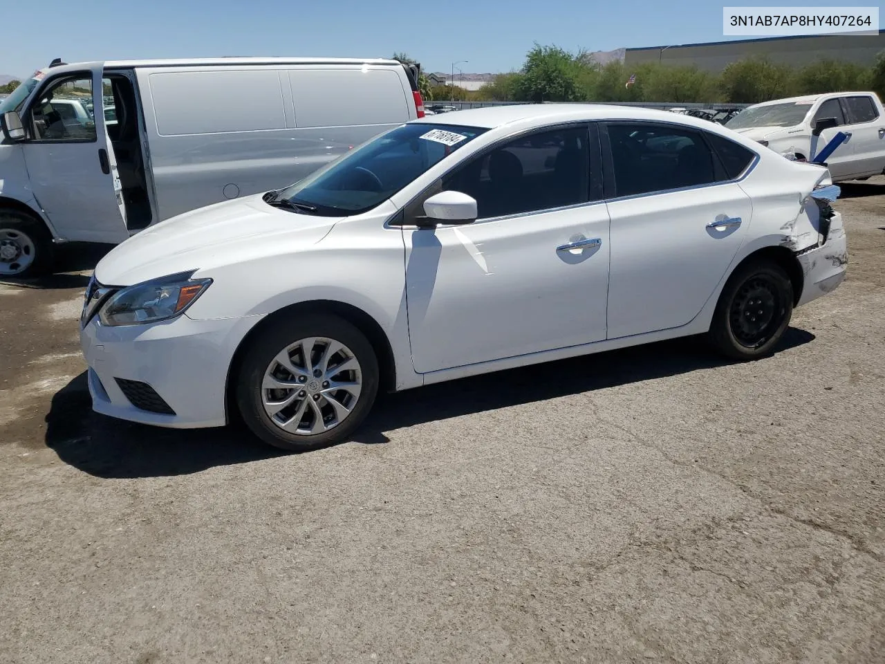
[{"label": "glossy white hood of the sedan in the foreground", "polygon": [[319,242],[342,217],[319,217],[267,205],[261,195],[224,201],[161,221],[114,247],[96,281],[130,286],[167,274],[203,271]]}]

